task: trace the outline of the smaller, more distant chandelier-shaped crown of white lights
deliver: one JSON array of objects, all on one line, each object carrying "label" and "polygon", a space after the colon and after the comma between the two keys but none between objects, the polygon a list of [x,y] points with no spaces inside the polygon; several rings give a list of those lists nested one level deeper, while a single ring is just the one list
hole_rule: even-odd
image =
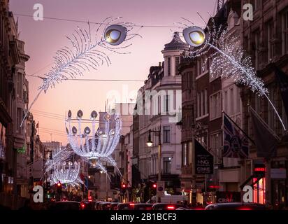
[{"label": "smaller, more distant chandelier-shaped crown of white lights", "polygon": [[80,163],[78,162],[59,162],[57,165],[54,166],[53,174],[52,174],[52,181],[54,183],[67,183],[73,184],[80,181],[78,178],[80,171]]}]

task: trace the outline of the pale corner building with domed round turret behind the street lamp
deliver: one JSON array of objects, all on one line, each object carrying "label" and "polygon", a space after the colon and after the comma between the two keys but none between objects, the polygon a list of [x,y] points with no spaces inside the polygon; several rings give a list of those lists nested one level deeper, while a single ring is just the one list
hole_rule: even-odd
[{"label": "pale corner building with domed round turret behind the street lamp", "polygon": [[[171,194],[180,190],[181,132],[176,125],[181,113],[181,76],[178,66],[180,55],[188,48],[178,32],[175,32],[172,41],[162,50],[164,63],[150,68],[145,84],[138,91],[134,114],[134,174],[140,176],[140,182],[146,186],[150,181],[158,181],[160,162],[161,181],[165,182],[165,190]],[[152,147],[147,146],[150,130]]]}]

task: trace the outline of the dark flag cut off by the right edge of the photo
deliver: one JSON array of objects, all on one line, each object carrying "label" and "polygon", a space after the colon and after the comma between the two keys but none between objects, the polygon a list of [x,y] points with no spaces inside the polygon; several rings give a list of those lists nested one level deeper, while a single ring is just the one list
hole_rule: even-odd
[{"label": "dark flag cut off by the right edge of the photo", "polygon": [[281,69],[278,69],[278,67],[275,69],[275,76],[280,87],[282,101],[288,116],[288,76]]}]

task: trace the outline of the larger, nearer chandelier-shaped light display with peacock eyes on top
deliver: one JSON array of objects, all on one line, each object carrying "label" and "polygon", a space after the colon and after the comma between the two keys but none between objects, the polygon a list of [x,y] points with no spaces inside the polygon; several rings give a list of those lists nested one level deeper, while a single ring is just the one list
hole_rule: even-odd
[{"label": "larger, nearer chandelier-shaped light display with peacock eyes on top", "polygon": [[120,116],[104,113],[103,118],[97,120],[96,111],[92,111],[90,119],[83,119],[82,116],[82,111],[78,111],[77,118],[73,119],[69,111],[66,120],[66,132],[73,151],[81,157],[96,160],[101,158],[115,165],[110,155],[120,139]]}]

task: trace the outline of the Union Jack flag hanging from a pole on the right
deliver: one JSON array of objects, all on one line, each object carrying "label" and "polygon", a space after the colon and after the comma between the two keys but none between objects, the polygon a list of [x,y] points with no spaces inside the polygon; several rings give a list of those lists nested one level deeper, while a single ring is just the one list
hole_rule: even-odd
[{"label": "Union Jack flag hanging from a pole on the right", "polygon": [[247,158],[249,142],[240,129],[231,122],[231,118],[223,113],[223,157]]}]

